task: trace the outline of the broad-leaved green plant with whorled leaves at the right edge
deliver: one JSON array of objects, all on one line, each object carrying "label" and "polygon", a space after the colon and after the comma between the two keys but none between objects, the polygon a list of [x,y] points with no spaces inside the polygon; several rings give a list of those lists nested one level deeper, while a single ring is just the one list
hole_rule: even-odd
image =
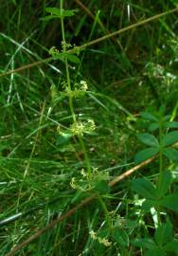
[{"label": "broad-leaved green plant with whorled leaves at the right edge", "polygon": [[178,252],[178,241],[173,239],[172,225],[163,221],[164,214],[169,218],[168,210],[178,211],[178,193],[170,190],[174,180],[171,172],[165,170],[163,158],[166,156],[169,160],[178,162],[178,151],[172,148],[178,141],[178,132],[169,131],[170,128],[177,128],[178,122],[169,121],[170,116],[164,114],[165,107],[163,106],[154,114],[141,113],[141,117],[147,121],[148,130],[150,132],[158,131],[158,138],[150,133],[138,135],[139,140],[150,148],[135,155],[136,162],[141,162],[155,155],[159,157],[159,173],[155,185],[148,178],[137,178],[132,182],[134,192],[144,198],[141,208],[145,214],[153,209],[157,213],[157,218],[154,217],[156,227],[154,240],[148,237],[134,240],[135,246],[147,248],[146,255],[169,255],[167,254],[169,251]]}]

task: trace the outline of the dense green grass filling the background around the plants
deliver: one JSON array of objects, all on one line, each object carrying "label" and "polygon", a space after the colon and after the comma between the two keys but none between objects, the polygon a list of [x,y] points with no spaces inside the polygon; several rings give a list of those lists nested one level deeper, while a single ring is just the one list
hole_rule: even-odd
[{"label": "dense green grass filling the background around the plants", "polygon": [[[2,256],[36,232],[38,238],[20,247],[16,255],[153,255],[134,241],[153,239],[158,229],[153,210],[141,208],[144,196],[132,184],[136,178],[146,177],[155,185],[158,158],[112,188],[107,182],[133,168],[134,155],[144,149],[137,135],[146,133],[148,123],[140,112],[153,114],[165,104],[169,120],[177,120],[177,12],[138,26],[174,9],[176,1],[82,3],[86,9],[80,9],[79,1],[67,0],[1,4]],[[79,11],[64,19],[40,19],[49,14],[46,7],[60,9],[61,4],[63,9]],[[128,29],[109,36],[123,27]],[[52,46],[61,51],[64,40],[80,46],[80,64],[70,62],[66,55],[62,60],[43,61],[50,57]],[[35,64],[41,61],[44,63]],[[19,67],[19,72],[9,72]],[[63,96],[66,87],[74,90],[80,81],[88,86],[82,97]],[[91,130],[88,119],[95,121],[95,130],[86,131]],[[83,136],[71,132],[76,120],[86,125]],[[156,131],[154,136],[158,137]],[[161,169],[172,174],[169,194],[176,193],[177,161],[164,159],[162,164]],[[79,207],[94,193],[95,199]],[[75,207],[67,218],[40,233]],[[170,222],[171,238],[176,240],[177,210],[154,210],[158,215],[164,212],[159,229],[165,223],[169,227]],[[162,255],[178,252],[163,249]]]}]

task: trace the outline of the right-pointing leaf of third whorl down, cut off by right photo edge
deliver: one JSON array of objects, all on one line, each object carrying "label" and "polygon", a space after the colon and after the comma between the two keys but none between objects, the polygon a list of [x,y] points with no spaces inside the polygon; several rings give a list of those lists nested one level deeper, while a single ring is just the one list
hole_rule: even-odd
[{"label": "right-pointing leaf of third whorl down, cut off by right photo edge", "polygon": [[178,211],[178,193],[165,196],[165,198],[160,200],[160,204],[169,210]]}]

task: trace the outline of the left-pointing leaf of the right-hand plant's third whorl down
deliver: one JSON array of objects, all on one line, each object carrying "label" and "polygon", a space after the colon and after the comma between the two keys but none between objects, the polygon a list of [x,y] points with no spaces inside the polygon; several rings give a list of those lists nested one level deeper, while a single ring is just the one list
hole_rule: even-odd
[{"label": "left-pointing leaf of the right-hand plant's third whorl down", "polygon": [[151,181],[146,178],[135,179],[132,183],[132,188],[134,192],[137,192],[146,199],[156,199],[156,189],[152,185]]}]

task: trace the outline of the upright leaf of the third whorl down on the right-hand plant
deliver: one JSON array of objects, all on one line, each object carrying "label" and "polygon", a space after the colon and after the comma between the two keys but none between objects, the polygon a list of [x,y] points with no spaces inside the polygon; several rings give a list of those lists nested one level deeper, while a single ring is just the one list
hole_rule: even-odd
[{"label": "upright leaf of the third whorl down on the right-hand plant", "polygon": [[161,184],[159,189],[157,189],[157,198],[161,198],[169,191],[169,186],[171,184],[171,174],[169,171],[166,171],[162,174]]}]

